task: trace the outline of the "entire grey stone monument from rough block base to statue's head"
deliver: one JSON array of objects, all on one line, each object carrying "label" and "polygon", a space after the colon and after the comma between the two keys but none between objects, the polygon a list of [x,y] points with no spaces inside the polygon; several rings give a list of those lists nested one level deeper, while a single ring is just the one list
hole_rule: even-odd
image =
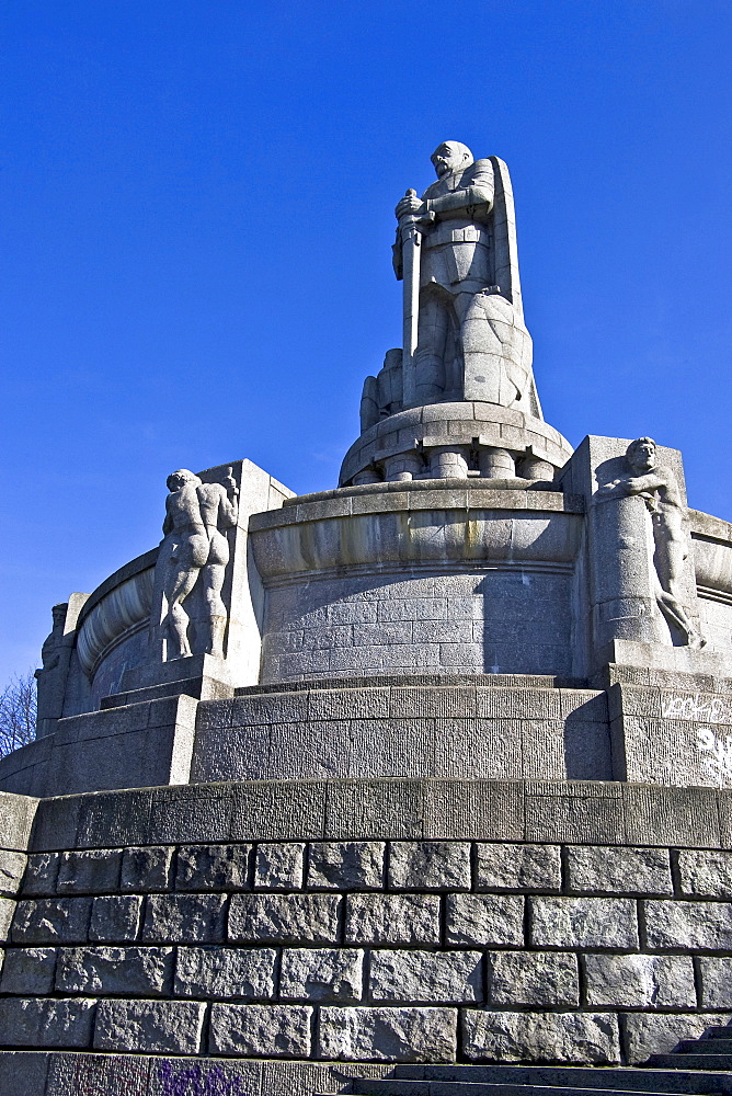
[{"label": "entire grey stone monument from rough block base to statue's head", "polygon": [[54,607],[3,1096],[729,1087],[732,525],[544,421],[508,170],[432,161],[340,486],[179,469]]}]

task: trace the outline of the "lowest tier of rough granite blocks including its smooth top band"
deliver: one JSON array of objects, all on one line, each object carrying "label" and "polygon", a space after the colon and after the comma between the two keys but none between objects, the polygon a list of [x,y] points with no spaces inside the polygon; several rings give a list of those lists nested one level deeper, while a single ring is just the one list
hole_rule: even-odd
[{"label": "lowest tier of rough granite blocks including its smooth top band", "polygon": [[616,1065],[732,1015],[731,791],[263,780],[1,808],[5,1046]]}]

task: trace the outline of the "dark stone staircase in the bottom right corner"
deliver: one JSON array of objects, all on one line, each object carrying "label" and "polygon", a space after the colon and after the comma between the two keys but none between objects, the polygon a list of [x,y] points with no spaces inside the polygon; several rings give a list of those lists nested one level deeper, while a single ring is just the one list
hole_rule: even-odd
[{"label": "dark stone staircase in the bottom right corner", "polygon": [[[720,1054],[713,1051],[717,1042],[724,1048]],[[700,1039],[679,1043],[673,1054],[653,1055],[648,1068],[397,1065],[390,1077],[354,1077],[350,1089],[358,1096],[591,1096],[593,1093],[716,1096],[732,1093],[732,1072],[723,1072],[730,1070],[732,1028],[711,1028]]]}]

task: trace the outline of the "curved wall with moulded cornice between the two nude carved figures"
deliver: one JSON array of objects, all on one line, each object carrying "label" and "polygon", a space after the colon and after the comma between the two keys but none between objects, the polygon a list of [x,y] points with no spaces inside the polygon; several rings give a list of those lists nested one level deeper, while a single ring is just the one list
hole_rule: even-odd
[{"label": "curved wall with moulded cornice between the two nude carved figures", "polygon": [[252,518],[261,681],[572,672],[582,501],[487,481],[363,487]]}]

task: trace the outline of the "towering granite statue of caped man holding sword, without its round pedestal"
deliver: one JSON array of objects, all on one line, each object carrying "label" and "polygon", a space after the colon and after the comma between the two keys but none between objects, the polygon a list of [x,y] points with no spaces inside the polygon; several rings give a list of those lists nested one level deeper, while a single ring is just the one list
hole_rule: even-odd
[{"label": "towering granite statue of caped man holding sword, without its round pedestal", "polygon": [[396,209],[394,270],[404,282],[401,407],[484,400],[541,418],[508,169],[497,157],[474,160],[453,140],[436,148],[432,163],[437,181],[421,198],[408,191]]}]

